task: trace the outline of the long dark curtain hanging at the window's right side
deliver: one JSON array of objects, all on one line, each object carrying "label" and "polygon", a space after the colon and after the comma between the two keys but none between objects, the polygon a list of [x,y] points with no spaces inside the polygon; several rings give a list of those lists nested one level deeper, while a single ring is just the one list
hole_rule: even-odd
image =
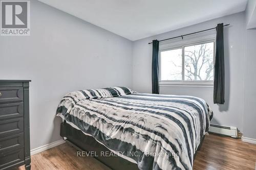
[{"label": "long dark curtain hanging at the window's right side", "polygon": [[223,23],[216,27],[216,56],[214,73],[214,103],[224,104],[225,88],[225,70],[224,70],[224,41],[223,41]]}]

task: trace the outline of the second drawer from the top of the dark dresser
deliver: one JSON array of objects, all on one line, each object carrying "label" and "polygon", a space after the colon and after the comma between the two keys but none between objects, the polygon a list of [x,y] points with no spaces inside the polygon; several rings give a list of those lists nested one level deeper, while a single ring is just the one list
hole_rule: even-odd
[{"label": "second drawer from the top of the dark dresser", "polygon": [[24,112],[23,108],[23,102],[0,104],[0,120],[19,116],[22,117]]}]

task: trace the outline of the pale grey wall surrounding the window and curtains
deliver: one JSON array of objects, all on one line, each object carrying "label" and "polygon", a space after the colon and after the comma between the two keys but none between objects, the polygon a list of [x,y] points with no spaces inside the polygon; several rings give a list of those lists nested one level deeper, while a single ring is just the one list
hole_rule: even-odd
[{"label": "pale grey wall surrounding the window and curtains", "polygon": [[[243,131],[244,111],[244,60],[245,60],[245,13],[237,13],[209,20],[194,26],[137,40],[133,44],[133,88],[139,92],[151,93],[151,60],[153,39],[165,39],[213,28],[217,23],[230,23],[224,29],[225,48],[225,104],[213,103],[213,88],[205,87],[160,87],[162,94],[195,95],[204,99],[214,111],[211,123],[236,126]],[[200,36],[200,35],[199,35]]]}]

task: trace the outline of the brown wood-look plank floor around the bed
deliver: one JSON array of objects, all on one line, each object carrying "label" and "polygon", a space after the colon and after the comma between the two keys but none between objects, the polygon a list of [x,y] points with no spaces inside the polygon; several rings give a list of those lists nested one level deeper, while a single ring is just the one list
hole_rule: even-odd
[{"label": "brown wood-look plank floor around the bed", "polygon": [[[76,150],[67,143],[31,157],[32,170],[109,170],[92,157],[77,157]],[[194,170],[255,170],[256,144],[210,134],[205,136],[201,151],[197,153]],[[17,169],[25,169],[20,166]]]}]

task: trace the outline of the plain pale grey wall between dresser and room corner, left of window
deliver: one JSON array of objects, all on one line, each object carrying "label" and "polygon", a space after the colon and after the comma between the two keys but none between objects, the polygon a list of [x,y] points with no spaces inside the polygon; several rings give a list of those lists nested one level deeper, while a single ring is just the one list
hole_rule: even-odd
[{"label": "plain pale grey wall between dresser and room corner, left of window", "polygon": [[31,149],[60,139],[55,111],[73,90],[132,85],[132,41],[31,1],[31,36],[0,36],[0,79],[31,79]]}]

